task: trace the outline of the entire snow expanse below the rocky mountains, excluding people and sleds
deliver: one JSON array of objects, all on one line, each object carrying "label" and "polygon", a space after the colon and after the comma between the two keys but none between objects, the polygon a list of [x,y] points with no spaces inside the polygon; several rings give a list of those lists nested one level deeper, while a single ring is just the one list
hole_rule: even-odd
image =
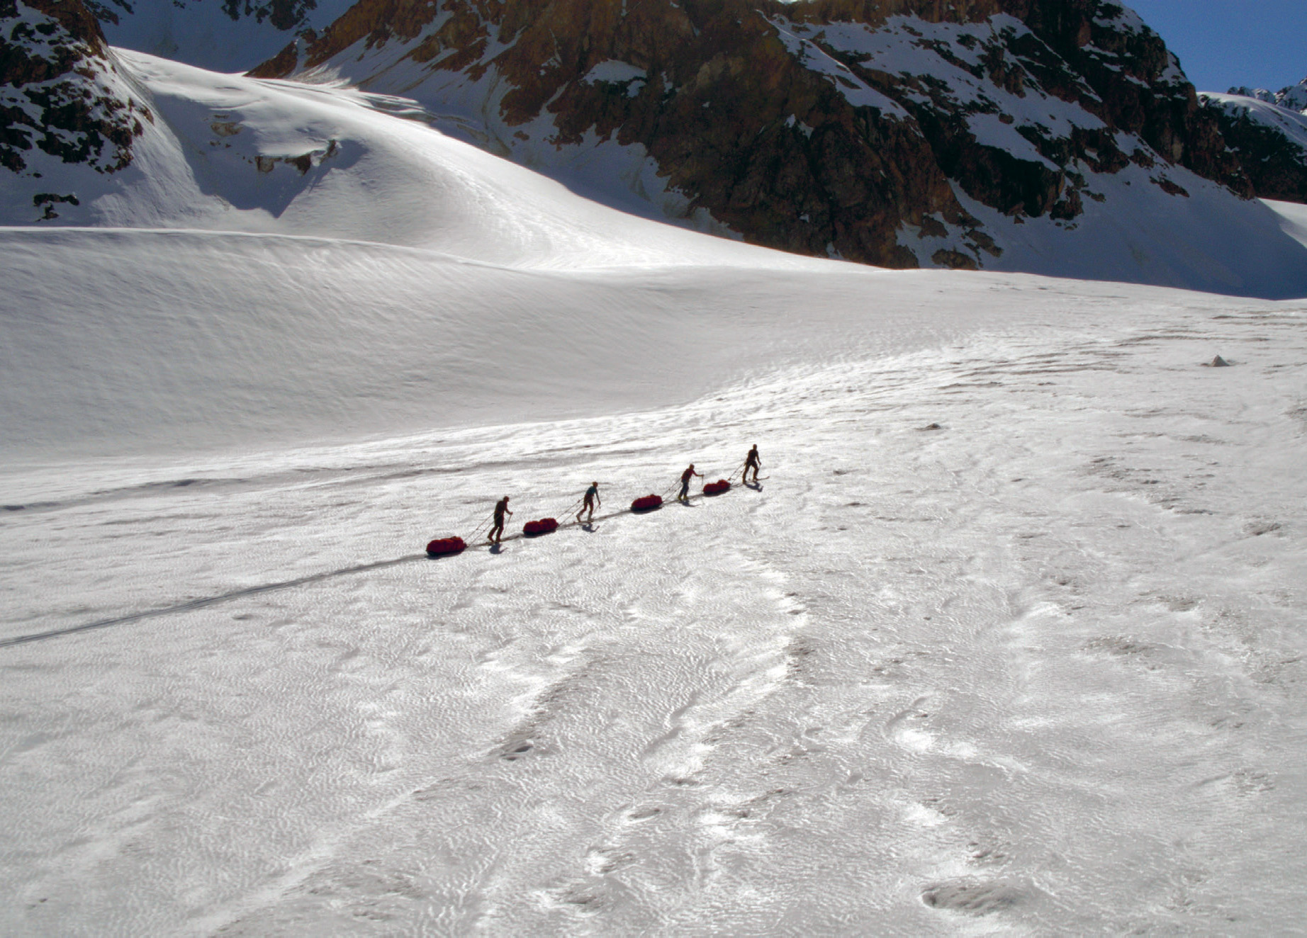
[{"label": "entire snow expanse below the rocky mountains, excluding people and sleds", "polygon": [[[99,59],[129,159],[0,171],[0,933],[1298,928],[1302,300],[779,253]],[[1167,199],[1061,235],[1307,294],[1300,206]]]}]

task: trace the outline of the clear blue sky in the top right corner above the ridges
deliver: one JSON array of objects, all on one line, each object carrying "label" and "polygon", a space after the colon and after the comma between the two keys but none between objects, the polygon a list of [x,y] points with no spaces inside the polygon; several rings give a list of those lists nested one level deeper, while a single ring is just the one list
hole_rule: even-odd
[{"label": "clear blue sky in the top right corner above the ridges", "polygon": [[1117,0],[1180,56],[1200,91],[1278,91],[1307,77],[1307,0]]}]

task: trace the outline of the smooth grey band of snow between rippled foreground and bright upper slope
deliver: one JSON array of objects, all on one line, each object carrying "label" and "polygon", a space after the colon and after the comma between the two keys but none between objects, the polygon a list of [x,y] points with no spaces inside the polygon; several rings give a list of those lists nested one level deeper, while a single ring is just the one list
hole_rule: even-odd
[{"label": "smooth grey band of snow between rippled foreground and bright upper slope", "polygon": [[1115,315],[1121,293],[789,267],[772,251],[676,234],[697,239],[685,263],[542,270],[325,238],[0,230],[0,448],[13,462],[166,456],[610,414],[799,362],[1029,321],[1050,300],[1057,316]]}]

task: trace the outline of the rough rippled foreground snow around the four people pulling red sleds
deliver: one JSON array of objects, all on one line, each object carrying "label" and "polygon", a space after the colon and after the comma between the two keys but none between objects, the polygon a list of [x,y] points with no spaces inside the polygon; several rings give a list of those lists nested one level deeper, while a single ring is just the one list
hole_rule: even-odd
[{"label": "rough rippled foreground snow around the four people pulling red sleds", "polygon": [[[1193,298],[652,413],[34,472],[0,639],[118,623],[0,648],[0,930],[1293,931],[1303,323]],[[400,562],[753,442],[757,491]]]}]

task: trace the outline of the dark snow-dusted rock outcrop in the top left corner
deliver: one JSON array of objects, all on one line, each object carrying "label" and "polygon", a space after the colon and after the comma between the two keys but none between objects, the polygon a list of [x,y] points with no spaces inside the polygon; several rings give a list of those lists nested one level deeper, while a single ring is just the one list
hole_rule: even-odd
[{"label": "dark snow-dusted rock outcrop in the top left corner", "polygon": [[[115,172],[152,115],[139,103],[81,0],[0,0],[0,166],[42,176],[42,163]],[[76,196],[35,197],[46,217]]]}]

